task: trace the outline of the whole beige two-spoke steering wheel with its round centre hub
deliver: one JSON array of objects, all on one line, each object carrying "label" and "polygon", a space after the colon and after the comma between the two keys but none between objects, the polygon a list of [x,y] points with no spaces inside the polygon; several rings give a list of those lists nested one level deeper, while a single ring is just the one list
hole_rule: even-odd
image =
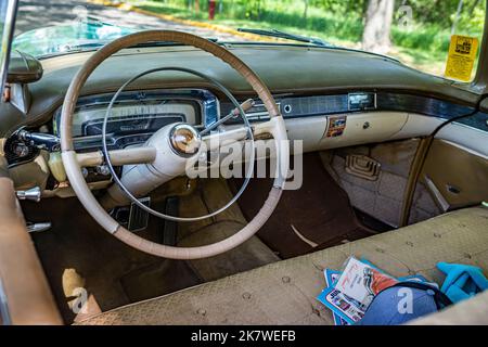
[{"label": "whole beige two-spoke steering wheel with its round centre hub", "polygon": [[[194,164],[202,151],[216,150],[216,143],[244,140],[248,134],[245,127],[223,132],[209,133],[201,137],[198,131],[190,125],[166,126],[140,147],[90,153],[76,153],[73,143],[73,116],[78,97],[87,79],[93,70],[106,59],[118,51],[150,41],[170,41],[201,49],[220,59],[236,70],[254,89],[269,113],[270,120],[253,126],[253,134],[270,133],[274,139],[277,165],[274,182],[271,191],[258,214],[247,226],[235,234],[214,244],[197,247],[167,246],[145,240],[120,226],[93,196],[81,172],[82,167],[103,165],[107,160],[111,165],[136,167],[156,175],[157,183],[184,174],[185,168]],[[243,113],[243,107],[239,107]],[[106,119],[105,119],[106,120]],[[127,245],[141,252],[170,259],[201,259],[228,252],[252,237],[269,219],[281,197],[290,160],[290,146],[286,128],[279,107],[266,85],[237,56],[224,48],[195,35],[169,30],[149,30],[131,34],[104,46],[93,53],[75,75],[64,99],[61,115],[61,151],[64,168],[69,183],[87,211],[107,232]],[[181,140],[183,139],[183,140]],[[201,145],[205,143],[206,145]],[[137,178],[144,182],[144,177]],[[118,182],[118,181],[117,181]]]}]

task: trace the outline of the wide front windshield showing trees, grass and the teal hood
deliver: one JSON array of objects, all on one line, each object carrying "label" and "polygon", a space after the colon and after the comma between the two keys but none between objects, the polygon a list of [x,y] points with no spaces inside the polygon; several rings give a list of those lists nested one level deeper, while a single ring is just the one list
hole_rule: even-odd
[{"label": "wide front windshield showing trees, grass and the teal hood", "polygon": [[[97,49],[137,30],[190,31],[220,42],[287,42],[393,56],[457,78],[449,52],[476,72],[486,0],[21,0],[14,48],[37,56]],[[453,48],[454,47],[454,48]],[[465,66],[463,66],[464,68]],[[449,70],[451,68],[451,70]],[[467,77],[466,77],[467,76]]]}]

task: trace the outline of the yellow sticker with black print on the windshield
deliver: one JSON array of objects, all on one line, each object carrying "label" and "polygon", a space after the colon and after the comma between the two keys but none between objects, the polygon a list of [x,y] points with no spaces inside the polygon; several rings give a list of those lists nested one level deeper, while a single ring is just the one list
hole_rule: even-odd
[{"label": "yellow sticker with black print on the windshield", "polygon": [[453,35],[451,37],[451,44],[449,46],[446,77],[468,82],[473,73],[477,51],[477,38]]}]

